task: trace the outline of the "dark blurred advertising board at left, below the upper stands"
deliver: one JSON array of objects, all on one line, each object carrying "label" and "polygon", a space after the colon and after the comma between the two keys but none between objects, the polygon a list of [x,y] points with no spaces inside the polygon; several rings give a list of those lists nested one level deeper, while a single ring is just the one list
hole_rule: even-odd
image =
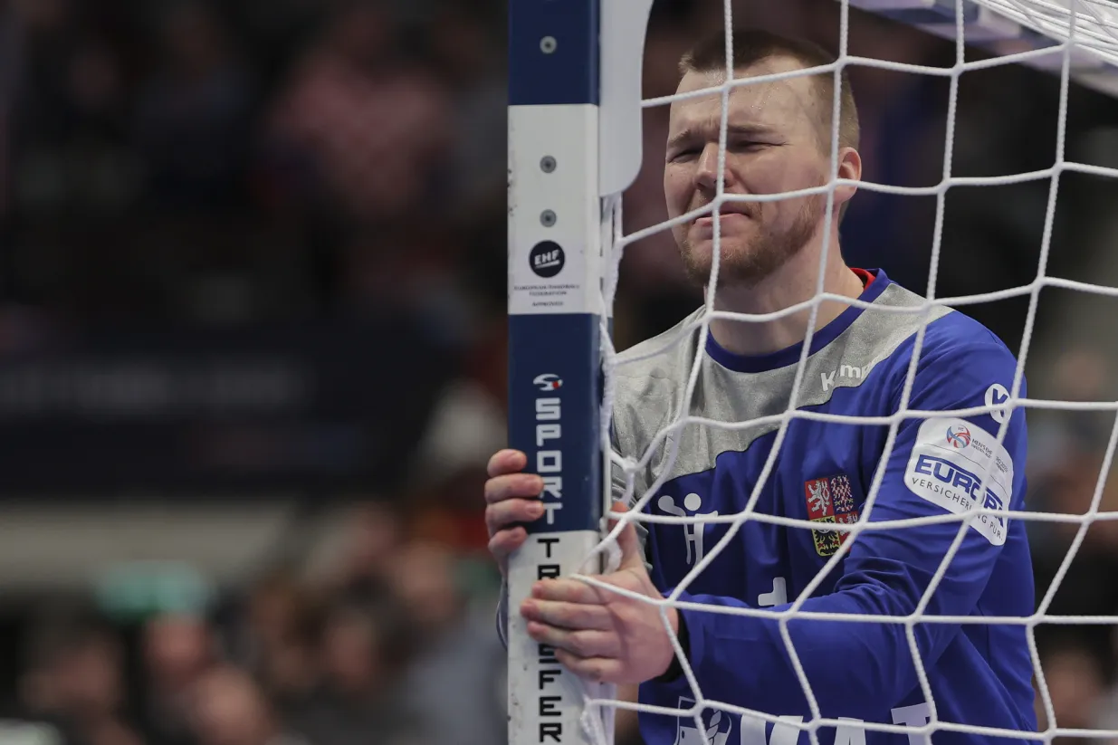
[{"label": "dark blurred advertising board at left, below the upper stands", "polygon": [[453,359],[398,318],[8,345],[0,496],[390,488]]}]

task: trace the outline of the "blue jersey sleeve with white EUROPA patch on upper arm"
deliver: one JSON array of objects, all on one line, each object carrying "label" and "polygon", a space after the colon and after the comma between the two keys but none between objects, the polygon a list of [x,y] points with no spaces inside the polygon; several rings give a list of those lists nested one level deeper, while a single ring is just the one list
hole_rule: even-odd
[{"label": "blue jersey sleeve with white EUROPA patch on upper arm", "polygon": [[[892,376],[897,405],[904,371],[904,366],[900,367]],[[942,414],[906,418],[900,424],[888,459],[868,469],[883,468],[884,474],[868,518],[863,509],[863,520],[869,524],[908,524],[863,530],[853,538],[834,591],[806,601],[802,612],[865,616],[913,613],[955,543],[963,519],[970,519],[970,525],[930,593],[923,614],[966,616],[975,612],[1006,543],[1010,522],[1005,516],[975,515],[973,508],[1021,508],[1024,412],[966,417],[947,412],[989,405],[988,392],[1007,392],[1015,369],[1013,356],[992,337],[926,349],[908,409]],[[1023,387],[1020,395],[1024,396]],[[994,400],[1002,398],[995,395]],[[998,427],[1007,416],[999,445]],[[920,518],[938,520],[912,522]],[[750,607],[736,598],[711,595],[683,593],[681,600]],[[777,620],[694,610],[680,613],[688,629],[688,659],[703,691],[761,711],[808,710]],[[795,619],[788,631],[823,716],[872,718],[882,702],[900,701],[918,689],[917,667],[902,623]],[[927,668],[959,633],[959,625],[917,623],[915,632]],[[652,685],[686,689],[683,678]]]}]

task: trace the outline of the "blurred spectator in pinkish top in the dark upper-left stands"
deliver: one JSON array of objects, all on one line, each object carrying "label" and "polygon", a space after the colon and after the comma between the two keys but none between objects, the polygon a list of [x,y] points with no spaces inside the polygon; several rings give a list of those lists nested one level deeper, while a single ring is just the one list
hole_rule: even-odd
[{"label": "blurred spectator in pinkish top in the dark upper-left stands", "polygon": [[352,3],[296,66],[273,128],[276,157],[305,169],[299,197],[337,200],[362,221],[445,210],[430,197],[449,142],[447,92],[396,54],[398,37],[387,9]]}]

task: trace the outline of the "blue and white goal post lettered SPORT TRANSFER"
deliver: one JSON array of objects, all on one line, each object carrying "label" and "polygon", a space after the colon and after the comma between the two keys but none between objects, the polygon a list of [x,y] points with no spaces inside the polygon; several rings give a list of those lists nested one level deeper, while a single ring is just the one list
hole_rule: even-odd
[{"label": "blue and white goal post lettered SPORT TRANSFER", "polygon": [[639,168],[651,2],[509,2],[509,444],[546,484],[544,516],[509,564],[510,745],[593,742],[580,724],[587,689],[528,636],[517,609],[540,578],[595,570],[581,563],[605,504],[599,333],[612,216],[601,197]]}]

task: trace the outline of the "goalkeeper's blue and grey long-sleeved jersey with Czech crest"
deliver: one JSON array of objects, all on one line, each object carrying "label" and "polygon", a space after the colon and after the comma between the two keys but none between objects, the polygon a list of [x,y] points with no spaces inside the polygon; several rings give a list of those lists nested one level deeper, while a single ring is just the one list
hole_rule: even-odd
[{"label": "goalkeeper's blue and grey long-sleeved jersey with Czech crest", "polygon": [[[1020,619],[1034,609],[1024,524],[973,511],[1022,508],[1024,412],[950,413],[1004,402],[1014,357],[963,313],[911,312],[923,300],[883,272],[861,299],[872,307],[850,308],[815,334],[795,408],[893,415],[901,409],[918,331],[927,323],[907,408],[929,414],[902,418],[891,447],[888,424],[793,418],[751,503],[756,519],[729,537],[727,522],[646,524],[646,557],[665,594],[709,560],[685,583],[682,602],[778,611],[808,591],[799,611],[817,614],[787,624],[794,658],[776,619],[682,609],[688,660],[702,696],[781,718],[774,723],[708,708],[699,732],[691,717],[642,713],[648,745],[806,745],[808,734],[799,725],[812,719],[812,710],[794,660],[821,716],[844,719],[819,727],[821,745],[927,743],[919,733],[873,729],[874,723],[930,720],[921,668],[935,702],[937,745],[1003,739],[963,734],[953,724],[1036,729],[1024,626],[963,621]],[[890,308],[909,312],[887,312]],[[631,499],[659,481],[645,507],[653,515],[724,517],[749,509],[776,442],[778,415],[792,398],[800,351],[796,346],[740,357],[709,337],[699,349],[699,330],[681,326],[625,352],[617,368],[614,445],[633,461],[648,453],[646,465],[632,474]],[[695,357],[699,377],[684,403]],[[657,438],[681,414],[724,423],[769,418],[745,427],[689,424]],[[868,502],[875,478],[880,488]],[[618,471],[614,489],[618,496],[625,489]],[[873,529],[887,521],[908,522]],[[850,534],[832,529],[836,526],[868,527]],[[941,564],[946,569],[929,592]],[[918,610],[925,617],[963,621],[915,625],[919,666],[897,620]],[[851,622],[825,614],[894,620]],[[688,708],[694,700],[683,676],[641,687],[644,704]]]}]

